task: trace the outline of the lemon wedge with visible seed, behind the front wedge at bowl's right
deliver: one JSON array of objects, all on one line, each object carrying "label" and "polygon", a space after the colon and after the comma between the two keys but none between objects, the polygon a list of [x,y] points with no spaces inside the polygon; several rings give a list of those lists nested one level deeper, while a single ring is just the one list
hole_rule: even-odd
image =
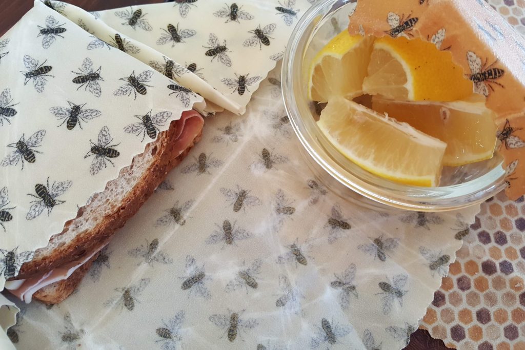
[{"label": "lemon wedge with visible seed, behind the front wedge at bowl's right", "polygon": [[443,165],[479,162],[494,153],[495,114],[481,96],[456,102],[403,102],[374,96],[372,108],[445,142]]}]

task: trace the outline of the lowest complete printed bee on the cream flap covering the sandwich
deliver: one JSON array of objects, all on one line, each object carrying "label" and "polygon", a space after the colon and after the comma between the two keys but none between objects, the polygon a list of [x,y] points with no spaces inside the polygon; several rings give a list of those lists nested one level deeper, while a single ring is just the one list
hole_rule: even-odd
[{"label": "lowest complete printed bee on the cream flap covering the sandwich", "polygon": [[66,203],[65,200],[59,200],[57,197],[63,195],[69,187],[73,184],[71,181],[59,181],[53,182],[52,186],[49,186],[49,177],[46,180],[47,185],[36,184],[35,193],[36,195],[29,194],[31,197],[35,197],[36,200],[31,201],[31,206],[26,215],[26,220],[33,220],[38,217],[44,209],[47,208],[47,215],[51,214],[51,210],[57,205]]}]

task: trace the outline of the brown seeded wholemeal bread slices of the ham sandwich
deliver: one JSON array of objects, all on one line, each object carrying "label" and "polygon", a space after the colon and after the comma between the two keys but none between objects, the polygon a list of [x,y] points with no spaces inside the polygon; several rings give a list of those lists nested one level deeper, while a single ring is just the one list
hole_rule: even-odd
[{"label": "brown seeded wholemeal bread slices of the ham sandwich", "polygon": [[[195,113],[195,116],[187,118],[185,123],[181,121],[183,118],[173,121],[169,130],[159,133],[142,154],[133,158],[130,166],[121,169],[118,178],[108,182],[103,192],[94,195],[89,204],[81,207],[75,219],[66,222],[60,234],[52,236],[46,247],[36,250],[33,260],[22,265],[15,279],[27,279],[85,257],[137,213],[167,173],[201,138],[204,122],[201,116],[194,111],[184,113]],[[186,141],[186,147],[181,148],[177,136],[183,128],[193,130],[195,135],[193,141]],[[34,296],[37,299],[41,296],[41,300],[47,303],[60,302],[76,288],[86,272],[86,268],[78,273],[75,271],[68,280],[48,285]]]}]

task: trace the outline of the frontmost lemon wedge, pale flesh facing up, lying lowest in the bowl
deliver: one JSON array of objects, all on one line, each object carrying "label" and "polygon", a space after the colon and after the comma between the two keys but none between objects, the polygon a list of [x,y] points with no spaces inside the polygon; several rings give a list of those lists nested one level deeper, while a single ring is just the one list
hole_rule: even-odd
[{"label": "frontmost lemon wedge, pale flesh facing up, lying lowest in the bowl", "polygon": [[406,123],[335,97],[317,124],[335,148],[375,175],[416,186],[439,183],[446,143]]}]

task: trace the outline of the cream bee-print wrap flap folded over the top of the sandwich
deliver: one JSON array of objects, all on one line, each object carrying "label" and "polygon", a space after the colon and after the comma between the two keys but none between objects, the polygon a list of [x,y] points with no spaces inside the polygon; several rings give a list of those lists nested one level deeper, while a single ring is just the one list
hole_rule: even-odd
[{"label": "cream bee-print wrap flap folded over the top of the sandwich", "polygon": [[41,2],[0,38],[0,289],[171,121],[204,107],[93,40]]}]

